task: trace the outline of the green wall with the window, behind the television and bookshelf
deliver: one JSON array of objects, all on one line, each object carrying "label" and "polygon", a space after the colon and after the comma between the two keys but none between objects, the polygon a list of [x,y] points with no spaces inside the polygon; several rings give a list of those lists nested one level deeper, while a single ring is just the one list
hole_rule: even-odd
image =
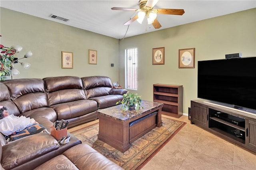
[{"label": "green wall with the window, behind the television and bookshelf", "polygon": [[[125,38],[119,47],[121,85],[124,50],[131,47],[138,47],[138,90],[129,91],[152,101],[153,84],[183,85],[183,113],[188,113],[190,100],[197,99],[197,61],[224,59],[231,53],[256,56],[256,8]],[[165,47],[164,65],[152,65],[156,47]],[[195,48],[195,68],[179,69],[178,51],[186,48]]]}]

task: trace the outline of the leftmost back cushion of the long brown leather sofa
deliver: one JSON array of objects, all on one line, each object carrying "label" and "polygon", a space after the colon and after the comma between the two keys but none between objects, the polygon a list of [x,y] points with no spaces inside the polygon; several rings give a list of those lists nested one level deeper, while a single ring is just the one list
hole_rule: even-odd
[{"label": "leftmost back cushion of the long brown leather sofa", "polygon": [[10,91],[20,113],[40,107],[48,107],[42,79],[13,79],[3,82]]}]

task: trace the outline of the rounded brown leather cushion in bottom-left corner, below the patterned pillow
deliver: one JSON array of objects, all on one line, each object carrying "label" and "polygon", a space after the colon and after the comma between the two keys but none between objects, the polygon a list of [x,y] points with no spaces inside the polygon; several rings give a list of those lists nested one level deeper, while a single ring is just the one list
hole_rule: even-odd
[{"label": "rounded brown leather cushion in bottom-left corner, below the patterned pillow", "polygon": [[13,169],[59,146],[58,141],[47,133],[26,136],[2,146],[1,164],[4,169]]}]

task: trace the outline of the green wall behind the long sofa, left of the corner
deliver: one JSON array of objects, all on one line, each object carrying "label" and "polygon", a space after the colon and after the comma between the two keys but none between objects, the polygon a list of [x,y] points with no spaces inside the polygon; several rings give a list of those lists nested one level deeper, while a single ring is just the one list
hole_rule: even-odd
[{"label": "green wall behind the long sofa, left of the corner", "polygon": [[[50,20],[0,8],[1,44],[10,47],[21,45],[21,58],[29,50],[33,56],[20,62],[31,64],[24,69],[20,64],[18,78],[44,78],[74,75],[78,77],[106,75],[118,81],[118,40]],[[97,50],[97,65],[88,64],[88,49]],[[62,69],[61,51],[73,52],[73,69]],[[114,67],[111,67],[114,63]]]}]

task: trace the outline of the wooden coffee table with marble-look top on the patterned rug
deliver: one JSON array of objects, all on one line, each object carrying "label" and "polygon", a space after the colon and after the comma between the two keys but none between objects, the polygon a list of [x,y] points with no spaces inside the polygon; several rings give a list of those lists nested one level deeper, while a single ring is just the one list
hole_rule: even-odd
[{"label": "wooden coffee table with marble-look top on the patterned rug", "polygon": [[121,105],[99,109],[98,139],[125,152],[130,143],[155,127],[162,126],[163,103],[142,100],[144,108],[124,111]]}]

